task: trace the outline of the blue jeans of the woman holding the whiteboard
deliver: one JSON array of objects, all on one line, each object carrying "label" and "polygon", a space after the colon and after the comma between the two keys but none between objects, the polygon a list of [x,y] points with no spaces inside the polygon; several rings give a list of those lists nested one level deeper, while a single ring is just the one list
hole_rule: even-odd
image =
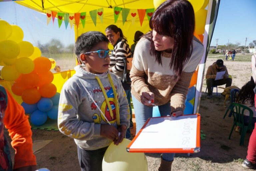
[{"label": "blue jeans of the woman holding the whiteboard", "polygon": [[[152,117],[153,107],[145,106],[140,101],[138,101],[132,95],[133,108],[135,111],[135,119],[136,119],[136,134],[142,128],[142,126],[146,123],[148,118]],[[171,104],[166,103],[164,105],[158,106],[160,115],[167,116],[171,115]],[[173,161],[175,153],[163,153],[162,157],[165,161]]]}]

